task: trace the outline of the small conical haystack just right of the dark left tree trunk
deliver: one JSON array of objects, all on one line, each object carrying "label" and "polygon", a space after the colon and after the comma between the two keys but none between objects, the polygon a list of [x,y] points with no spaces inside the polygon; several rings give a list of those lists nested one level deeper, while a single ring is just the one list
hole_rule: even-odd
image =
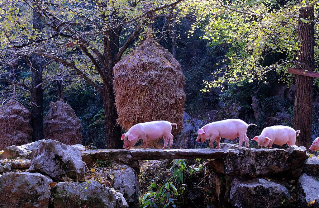
[{"label": "small conical haystack just right of the dark left tree trunk", "polygon": [[66,145],[81,144],[81,122],[69,104],[63,101],[50,103],[50,110],[44,118],[44,138]]}]

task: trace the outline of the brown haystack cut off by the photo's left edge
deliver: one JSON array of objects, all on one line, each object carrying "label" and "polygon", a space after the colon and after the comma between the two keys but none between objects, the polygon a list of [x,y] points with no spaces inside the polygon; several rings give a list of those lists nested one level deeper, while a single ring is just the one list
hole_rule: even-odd
[{"label": "brown haystack cut off by the photo's left edge", "polygon": [[31,142],[31,118],[30,110],[15,99],[0,107],[0,150]]}]

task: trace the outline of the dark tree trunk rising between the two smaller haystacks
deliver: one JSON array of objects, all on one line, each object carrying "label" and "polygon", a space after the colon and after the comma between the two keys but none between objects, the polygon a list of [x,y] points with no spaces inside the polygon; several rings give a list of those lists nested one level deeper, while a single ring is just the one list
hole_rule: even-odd
[{"label": "dark tree trunk rising between the two smaller haystacks", "polygon": [[[33,28],[36,31],[42,30],[42,22],[37,12],[33,11]],[[31,86],[31,112],[33,114],[32,119],[32,140],[37,141],[43,139],[43,91],[42,85],[36,87],[42,83],[42,57],[36,54],[31,56],[31,70],[32,70],[32,86]]]}]

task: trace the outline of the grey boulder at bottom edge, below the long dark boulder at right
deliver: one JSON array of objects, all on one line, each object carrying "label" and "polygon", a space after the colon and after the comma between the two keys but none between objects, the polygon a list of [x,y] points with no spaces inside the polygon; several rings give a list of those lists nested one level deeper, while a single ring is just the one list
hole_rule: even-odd
[{"label": "grey boulder at bottom edge, below the long dark boulder at right", "polygon": [[234,207],[278,207],[290,201],[288,189],[263,178],[235,179],[229,201]]}]

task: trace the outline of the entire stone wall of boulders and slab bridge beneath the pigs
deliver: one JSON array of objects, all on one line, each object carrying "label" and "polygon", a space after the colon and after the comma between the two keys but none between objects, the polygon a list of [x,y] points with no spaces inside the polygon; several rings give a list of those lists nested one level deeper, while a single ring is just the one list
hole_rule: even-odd
[{"label": "entire stone wall of boulders and slab bridge beneath the pigs", "polygon": [[211,159],[215,207],[319,207],[319,159],[304,147],[85,150],[54,140],[4,149],[0,207],[139,207],[138,160],[181,158]]}]

